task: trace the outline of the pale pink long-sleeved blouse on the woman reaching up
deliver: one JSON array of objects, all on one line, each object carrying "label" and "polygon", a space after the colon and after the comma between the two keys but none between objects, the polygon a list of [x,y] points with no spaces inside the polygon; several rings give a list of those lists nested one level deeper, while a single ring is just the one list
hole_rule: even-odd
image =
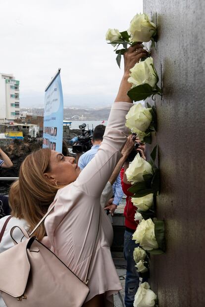
[{"label": "pale pink long-sleeved blouse on the woman reaching up", "polygon": [[84,281],[101,214],[100,239],[89,270],[90,294],[86,302],[104,293],[105,307],[113,306],[113,294],[122,286],[110,253],[112,226],[100,205],[100,197],[121,157],[120,149],[129,132],[125,127],[125,115],[131,106],[127,102],[112,105],[98,153],[76,181],[58,190],[54,210],[45,220],[53,252]]}]

